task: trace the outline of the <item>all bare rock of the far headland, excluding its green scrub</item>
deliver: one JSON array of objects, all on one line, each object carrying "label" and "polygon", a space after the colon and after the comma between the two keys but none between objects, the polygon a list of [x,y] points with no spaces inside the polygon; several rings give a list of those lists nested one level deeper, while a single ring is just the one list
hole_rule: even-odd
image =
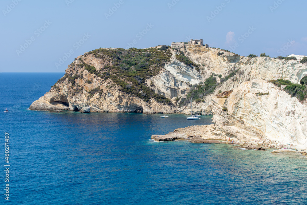
[{"label": "all bare rock of the far headland, excluding its green scrub", "polygon": [[[305,65],[297,61],[272,59],[267,57],[242,57],[233,53],[200,45],[185,45],[179,50],[169,49],[170,61],[160,72],[145,81],[145,84],[155,93],[170,99],[173,105],[157,102],[153,98],[144,101],[141,98],[125,93],[119,85],[110,79],[98,77],[83,67],[82,61],[95,69],[101,70],[113,66],[112,61],[85,53],[79,56],[66,69],[67,78],[59,80],[49,92],[31,104],[32,110],[75,110],[91,107],[91,112],[143,112],[153,113],[185,113],[190,112],[188,106],[181,106],[194,84],[204,82],[212,74],[216,75],[217,83],[220,77],[238,71],[227,81],[217,85],[214,92],[203,98],[204,102],[192,103],[193,111],[198,114],[212,115],[212,97],[220,92],[238,88],[242,83],[253,79],[279,79],[298,83],[307,74]],[[200,65],[200,70],[178,61],[176,55],[184,53],[194,63]],[[77,76],[71,80],[70,77]],[[176,100],[179,99],[178,101]]]}]

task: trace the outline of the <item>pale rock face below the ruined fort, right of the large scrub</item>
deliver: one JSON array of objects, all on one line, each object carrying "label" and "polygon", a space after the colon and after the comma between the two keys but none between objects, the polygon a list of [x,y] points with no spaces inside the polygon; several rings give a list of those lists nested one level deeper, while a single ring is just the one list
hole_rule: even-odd
[{"label": "pale rock face below the ruined fort, right of the large scrub", "polygon": [[[243,73],[239,78],[229,79],[219,85],[212,95],[204,98],[204,103],[193,104],[193,108],[201,109],[203,115],[212,114],[211,99],[218,94],[219,90],[224,92],[235,89],[241,83],[252,79],[266,81],[284,79],[290,80],[292,83],[299,83],[300,79],[307,75],[307,66],[293,60],[243,57],[220,49],[205,48],[199,45],[185,45],[179,50],[196,64],[200,64],[201,71],[198,72],[196,69],[178,61],[175,56],[179,52],[172,50],[171,62],[165,65],[164,70],[159,75],[147,81],[147,85],[153,82],[153,86],[151,86],[153,90],[169,99],[174,100],[176,97],[181,97],[181,101],[183,101],[191,85],[204,82],[212,73],[222,75],[222,77],[226,77],[237,69]],[[217,77],[217,80],[220,79]],[[179,113],[188,113],[188,110],[179,108]]]}]

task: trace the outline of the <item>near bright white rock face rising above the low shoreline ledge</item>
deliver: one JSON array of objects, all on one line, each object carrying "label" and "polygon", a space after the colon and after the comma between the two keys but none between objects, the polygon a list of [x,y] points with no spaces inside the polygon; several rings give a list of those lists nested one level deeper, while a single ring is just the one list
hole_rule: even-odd
[{"label": "near bright white rock face rising above the low shoreline ledge", "polygon": [[307,107],[271,83],[248,81],[228,99],[213,97],[212,100],[213,122],[220,130],[239,138],[266,138],[307,147]]}]

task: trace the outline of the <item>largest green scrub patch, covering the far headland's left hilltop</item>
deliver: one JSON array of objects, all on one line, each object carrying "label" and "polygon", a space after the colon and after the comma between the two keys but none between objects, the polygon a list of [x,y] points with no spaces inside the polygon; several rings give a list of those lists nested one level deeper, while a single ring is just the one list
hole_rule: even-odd
[{"label": "largest green scrub patch, covering the far headland's left hilltop", "polygon": [[[162,49],[96,49],[90,51],[86,55],[93,54],[96,58],[104,59],[109,65],[103,69],[97,70],[94,66],[87,65],[80,58],[78,67],[84,68],[88,72],[95,74],[97,77],[103,79],[110,79],[116,83],[120,90],[139,97],[146,102],[154,98],[157,102],[172,104],[169,99],[163,95],[155,93],[150,89],[146,80],[157,75],[161,68],[170,61],[171,52],[168,46],[162,46]],[[59,81],[66,78],[70,79],[72,85],[75,84],[75,79],[80,76],[65,76]],[[91,90],[90,95],[99,92],[99,89]],[[100,91],[101,92],[101,91]]]}]

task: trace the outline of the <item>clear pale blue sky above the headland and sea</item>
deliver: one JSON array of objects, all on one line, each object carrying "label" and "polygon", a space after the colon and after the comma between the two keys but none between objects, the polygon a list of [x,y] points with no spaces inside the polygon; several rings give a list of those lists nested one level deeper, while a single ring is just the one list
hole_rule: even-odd
[{"label": "clear pale blue sky above the headland and sea", "polygon": [[307,1],[2,0],[0,72],[64,72],[102,48],[204,39],[247,56],[307,55]]}]

